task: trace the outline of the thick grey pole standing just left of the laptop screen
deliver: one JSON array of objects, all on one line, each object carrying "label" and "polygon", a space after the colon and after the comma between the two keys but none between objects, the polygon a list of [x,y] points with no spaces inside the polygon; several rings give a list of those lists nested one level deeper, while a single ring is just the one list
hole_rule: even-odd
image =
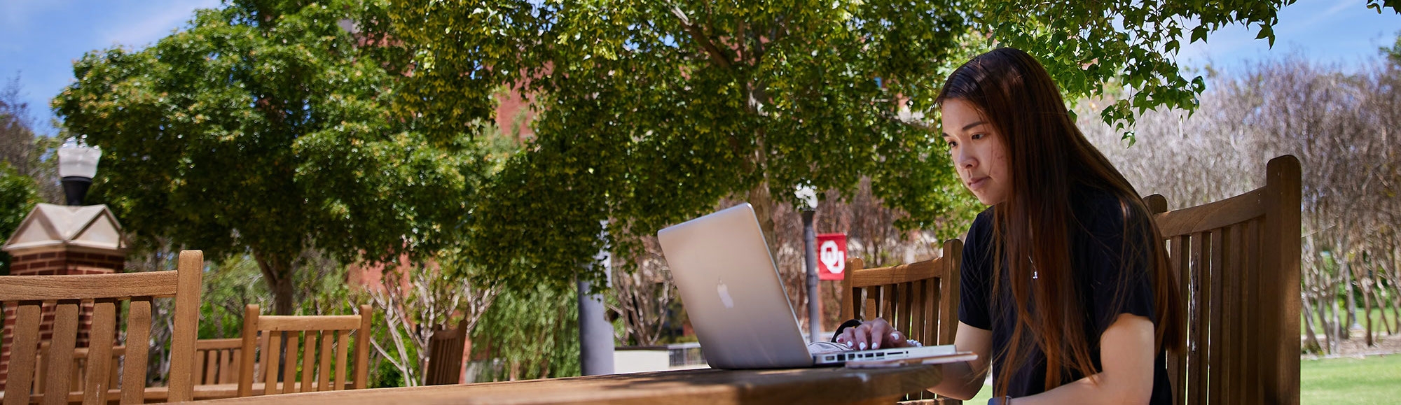
[{"label": "thick grey pole standing just left of the laptop screen", "polygon": [[[598,235],[607,237],[608,221],[601,221],[605,226]],[[614,339],[612,324],[604,316],[602,290],[612,282],[612,256],[608,250],[598,250],[594,263],[604,264],[604,288],[594,290],[586,281],[579,281],[579,369],[584,376],[614,373]],[[590,263],[588,265],[593,265]],[[588,265],[583,271],[588,271]]]}]

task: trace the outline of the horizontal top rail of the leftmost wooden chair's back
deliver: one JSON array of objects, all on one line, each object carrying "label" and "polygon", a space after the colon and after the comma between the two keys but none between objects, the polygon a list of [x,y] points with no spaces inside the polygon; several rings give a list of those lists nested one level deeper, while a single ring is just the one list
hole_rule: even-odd
[{"label": "horizontal top rail of the leftmost wooden chair's back", "polygon": [[85,275],[11,275],[0,284],[4,300],[92,300],[102,297],[174,296],[175,272]]}]

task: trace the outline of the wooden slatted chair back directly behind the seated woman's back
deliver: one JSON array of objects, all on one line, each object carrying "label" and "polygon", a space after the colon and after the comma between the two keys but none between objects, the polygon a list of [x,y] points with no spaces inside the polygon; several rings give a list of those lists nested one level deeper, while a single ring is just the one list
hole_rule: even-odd
[{"label": "wooden slatted chair back directly behind the seated woman's back", "polygon": [[1265,187],[1167,211],[1143,201],[1167,242],[1187,314],[1168,355],[1175,404],[1299,404],[1300,168],[1271,159]]}]

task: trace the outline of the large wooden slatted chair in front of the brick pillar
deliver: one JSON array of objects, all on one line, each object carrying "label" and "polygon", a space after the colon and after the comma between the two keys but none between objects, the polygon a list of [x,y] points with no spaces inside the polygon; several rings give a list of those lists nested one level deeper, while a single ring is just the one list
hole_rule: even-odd
[{"label": "large wooden slatted chair in front of the brick pillar", "polygon": [[[151,299],[175,297],[175,330],[171,337],[171,401],[191,399],[191,374],[195,362],[195,337],[199,331],[200,278],[203,253],[185,250],[177,271],[95,274],[95,275],[11,275],[0,284],[0,302],[15,306],[14,348],[4,405],[29,404],[142,404],[146,392],[147,344],[151,332]],[[113,337],[118,300],[129,300],[120,390],[111,385]],[[43,302],[55,302],[53,339],[43,369],[43,388],[32,390],[39,349],[39,323]],[[92,302],[91,344],[81,381],[74,381],[73,358],[77,349],[78,311],[83,302]],[[76,383],[76,384],[74,384]],[[74,390],[76,388],[76,390]],[[109,392],[112,390],[112,392]],[[77,392],[81,392],[80,395]],[[32,395],[32,398],[31,398]],[[78,395],[76,398],[70,398]],[[115,398],[112,395],[116,395]]]}]

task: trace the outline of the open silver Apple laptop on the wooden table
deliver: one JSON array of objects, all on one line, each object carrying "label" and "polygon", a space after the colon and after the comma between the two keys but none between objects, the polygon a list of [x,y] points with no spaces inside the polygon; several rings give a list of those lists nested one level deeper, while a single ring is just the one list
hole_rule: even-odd
[{"label": "open silver Apple laptop on the wooden table", "polygon": [[657,232],[706,363],[779,369],[953,353],[954,346],[811,353],[748,204]]}]

